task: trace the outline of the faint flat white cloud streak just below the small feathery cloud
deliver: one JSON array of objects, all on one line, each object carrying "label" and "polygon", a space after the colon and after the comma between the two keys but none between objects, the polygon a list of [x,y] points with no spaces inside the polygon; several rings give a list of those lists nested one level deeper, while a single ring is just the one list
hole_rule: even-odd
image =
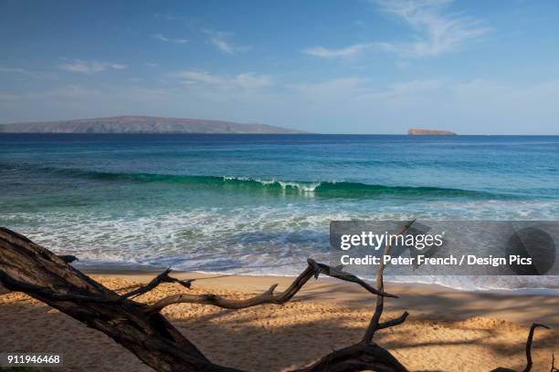
[{"label": "faint flat white cloud streak just below the small feathery cloud", "polygon": [[217,76],[205,71],[185,70],[176,71],[167,75],[170,78],[178,78],[187,85],[203,84],[217,88],[264,88],[274,83],[269,75],[259,75],[253,72],[245,72],[236,76]]}]

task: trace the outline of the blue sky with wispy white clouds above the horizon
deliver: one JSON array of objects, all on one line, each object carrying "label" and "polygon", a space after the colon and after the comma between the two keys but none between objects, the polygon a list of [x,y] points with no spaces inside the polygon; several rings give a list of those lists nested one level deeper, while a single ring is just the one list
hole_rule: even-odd
[{"label": "blue sky with wispy white clouds above the horizon", "polygon": [[559,2],[0,0],[0,123],[559,134]]}]

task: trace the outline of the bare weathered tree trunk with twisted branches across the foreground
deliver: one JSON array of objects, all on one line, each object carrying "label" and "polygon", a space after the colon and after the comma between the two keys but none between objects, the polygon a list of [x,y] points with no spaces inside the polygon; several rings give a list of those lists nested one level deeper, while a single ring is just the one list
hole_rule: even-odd
[{"label": "bare weathered tree trunk with twisted branches across the foreground", "polygon": [[[398,233],[405,233],[412,223],[413,221],[406,222]],[[390,246],[385,247],[385,254],[388,253]],[[305,270],[280,294],[274,294],[277,286],[274,284],[263,294],[244,300],[228,299],[216,294],[176,294],[153,304],[143,304],[134,301],[133,298],[148,293],[163,283],[176,283],[190,288],[194,279],[176,279],[169,275],[170,270],[167,269],[153,278],[149,284],[126,294],[117,294],[69,265],[75,259],[73,256],[57,256],[23,235],[0,228],[0,284],[8,290],[24,292],[103,332],[157,371],[238,371],[209,361],[161,315],[160,311],[164,307],[180,303],[215,305],[228,309],[262,304],[282,305],[290,301],[313,276],[318,278],[320,274],[358,284],[376,295],[374,315],[359,343],[333,351],[311,366],[293,372],[407,371],[395,356],[373,341],[376,331],[400,325],[406,321],[408,315],[405,312],[395,319],[381,322],[384,298],[396,297],[394,294],[385,293],[384,265],[377,271],[376,288],[353,274],[343,272],[339,267],[331,267],[309,259]],[[524,372],[532,368],[530,349],[536,326],[544,325],[534,324],[530,330],[526,343],[527,366]],[[511,370],[497,368],[493,371]],[[556,371],[554,365],[553,371]]]}]

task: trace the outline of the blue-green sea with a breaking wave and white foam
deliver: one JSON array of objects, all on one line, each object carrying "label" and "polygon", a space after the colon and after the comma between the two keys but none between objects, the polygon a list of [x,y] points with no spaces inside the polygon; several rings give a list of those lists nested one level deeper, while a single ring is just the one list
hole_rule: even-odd
[{"label": "blue-green sea with a breaking wave and white foam", "polygon": [[0,190],[85,263],[298,274],[331,220],[558,219],[559,137],[0,134]]}]

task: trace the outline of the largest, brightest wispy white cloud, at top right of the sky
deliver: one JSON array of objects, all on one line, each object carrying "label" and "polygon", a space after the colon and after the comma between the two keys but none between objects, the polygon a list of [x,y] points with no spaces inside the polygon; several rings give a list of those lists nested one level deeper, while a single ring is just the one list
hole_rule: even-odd
[{"label": "largest, brightest wispy white cloud, at top right of the sky", "polygon": [[414,42],[385,43],[386,50],[406,56],[438,56],[457,50],[490,30],[471,17],[446,12],[452,0],[375,0],[374,3],[416,31]]}]

